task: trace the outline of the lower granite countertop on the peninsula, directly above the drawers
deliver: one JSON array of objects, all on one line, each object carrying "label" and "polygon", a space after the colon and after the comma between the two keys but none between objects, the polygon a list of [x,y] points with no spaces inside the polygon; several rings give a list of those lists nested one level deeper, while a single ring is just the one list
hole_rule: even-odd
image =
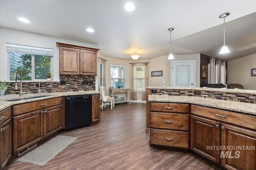
[{"label": "lower granite countertop on the peninsula, directly above the drawers", "polygon": [[256,104],[194,96],[149,95],[150,102],[188,103],[256,115]]}]

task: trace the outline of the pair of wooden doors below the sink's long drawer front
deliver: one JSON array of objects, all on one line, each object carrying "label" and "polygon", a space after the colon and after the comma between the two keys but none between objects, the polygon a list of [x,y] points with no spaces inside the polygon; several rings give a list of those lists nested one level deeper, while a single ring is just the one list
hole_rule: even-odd
[{"label": "pair of wooden doors below the sink's long drawer front", "polygon": [[63,104],[13,117],[13,154],[63,129]]}]

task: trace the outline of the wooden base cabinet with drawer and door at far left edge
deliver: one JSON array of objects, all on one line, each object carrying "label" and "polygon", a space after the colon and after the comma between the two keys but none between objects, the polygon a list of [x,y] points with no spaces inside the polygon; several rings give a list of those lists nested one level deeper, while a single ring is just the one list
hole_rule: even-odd
[{"label": "wooden base cabinet with drawer and door at far left edge", "polygon": [[12,109],[0,111],[0,170],[12,156]]}]

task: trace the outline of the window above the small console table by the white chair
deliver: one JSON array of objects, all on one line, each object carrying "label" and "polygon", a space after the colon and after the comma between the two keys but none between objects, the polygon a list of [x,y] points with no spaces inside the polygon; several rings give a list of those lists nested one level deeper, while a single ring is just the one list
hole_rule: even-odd
[{"label": "window above the small console table by the white chair", "polygon": [[124,88],[125,66],[110,64],[110,86]]}]

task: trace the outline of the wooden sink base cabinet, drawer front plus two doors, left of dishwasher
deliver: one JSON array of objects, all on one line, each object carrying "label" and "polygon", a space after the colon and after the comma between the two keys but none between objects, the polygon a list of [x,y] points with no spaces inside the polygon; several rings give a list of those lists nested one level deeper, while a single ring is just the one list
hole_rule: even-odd
[{"label": "wooden sink base cabinet, drawer front plus two doors, left of dishwasher", "polygon": [[64,128],[63,98],[13,106],[13,154]]}]

